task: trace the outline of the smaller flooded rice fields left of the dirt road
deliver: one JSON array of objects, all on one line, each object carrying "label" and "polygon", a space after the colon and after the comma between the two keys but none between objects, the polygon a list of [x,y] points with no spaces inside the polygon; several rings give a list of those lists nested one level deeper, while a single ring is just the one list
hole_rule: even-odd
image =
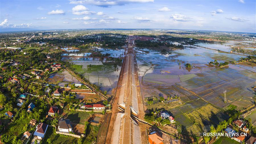
[{"label": "smaller flooded rice fields left of the dirt road", "polygon": [[[121,65],[115,65],[112,58],[122,58],[124,50],[112,50],[95,47],[94,52],[64,53],[62,60],[68,60],[79,74],[83,75],[90,83],[100,86],[100,90],[111,94],[116,87],[121,70]],[[108,54],[108,57],[92,57],[93,53]],[[68,56],[68,57],[67,57]]]}]

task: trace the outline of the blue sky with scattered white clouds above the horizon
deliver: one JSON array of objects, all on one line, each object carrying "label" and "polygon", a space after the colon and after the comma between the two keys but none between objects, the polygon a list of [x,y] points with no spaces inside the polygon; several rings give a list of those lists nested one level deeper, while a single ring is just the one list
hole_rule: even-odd
[{"label": "blue sky with scattered white clouds above the horizon", "polygon": [[156,28],[256,33],[255,0],[0,0],[0,28]]}]

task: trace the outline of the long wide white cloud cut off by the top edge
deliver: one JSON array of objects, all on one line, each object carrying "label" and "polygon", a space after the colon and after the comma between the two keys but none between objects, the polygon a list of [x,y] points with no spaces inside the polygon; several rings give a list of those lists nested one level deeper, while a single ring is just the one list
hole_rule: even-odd
[{"label": "long wide white cloud cut off by the top edge", "polygon": [[70,4],[90,4],[100,7],[111,7],[114,5],[125,5],[129,3],[148,3],[154,0],[71,0]]}]

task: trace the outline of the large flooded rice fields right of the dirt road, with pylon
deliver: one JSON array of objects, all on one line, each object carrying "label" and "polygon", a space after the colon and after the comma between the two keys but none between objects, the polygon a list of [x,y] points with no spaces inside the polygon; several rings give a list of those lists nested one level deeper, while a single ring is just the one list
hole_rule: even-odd
[{"label": "large flooded rice fields right of the dirt road, with pylon", "polygon": [[[207,47],[220,49],[212,44]],[[225,45],[221,49],[229,51]],[[232,104],[237,109],[244,109],[254,103],[251,87],[256,80],[256,66],[243,63],[216,68],[208,64],[214,60],[236,61],[245,56],[202,47],[175,50],[164,55],[147,48],[136,48],[136,52],[143,98],[178,99],[177,102],[147,105],[148,109],[168,110],[182,131],[201,135],[209,131],[212,124],[228,119],[222,108]],[[186,63],[192,68],[186,68]],[[227,91],[227,103],[224,102],[224,91]]]}]

